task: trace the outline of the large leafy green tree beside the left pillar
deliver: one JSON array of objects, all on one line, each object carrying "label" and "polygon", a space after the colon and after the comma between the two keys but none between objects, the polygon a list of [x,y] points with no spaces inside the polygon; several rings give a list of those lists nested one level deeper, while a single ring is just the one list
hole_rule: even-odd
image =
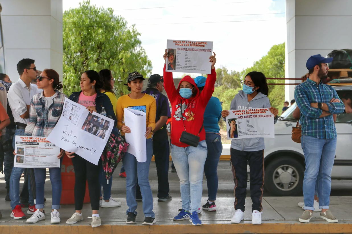
[{"label": "large leafy green tree beside the left pillar", "polygon": [[63,85],[70,95],[80,90],[80,77],[86,70],[109,69],[115,82],[117,95],[127,92],[124,83],[128,73],[151,73],[152,64],[138,38],[134,25],[104,9],[80,2],[80,7],[70,8],[63,14]]}]

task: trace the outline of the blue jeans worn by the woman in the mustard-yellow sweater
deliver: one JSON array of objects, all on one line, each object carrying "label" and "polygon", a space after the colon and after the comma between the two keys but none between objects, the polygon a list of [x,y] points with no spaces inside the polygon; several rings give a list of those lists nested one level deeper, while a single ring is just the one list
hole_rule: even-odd
[{"label": "blue jeans worn by the woman in the mustard-yellow sweater", "polygon": [[153,143],[152,139],[147,141],[147,160],[144,163],[137,162],[133,154],[126,153],[122,158],[124,168],[126,170],[126,202],[128,205],[128,212],[137,215],[137,202],[136,202],[136,186],[137,179],[142,192],[143,213],[145,217],[155,218],[153,212],[153,195],[149,184],[149,166],[153,156]]}]

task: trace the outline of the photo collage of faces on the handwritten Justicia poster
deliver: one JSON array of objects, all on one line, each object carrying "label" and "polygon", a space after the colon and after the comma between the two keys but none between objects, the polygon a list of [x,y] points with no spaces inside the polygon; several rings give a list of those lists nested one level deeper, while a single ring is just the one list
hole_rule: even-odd
[{"label": "photo collage of faces on the handwritten Justicia poster", "polygon": [[105,138],[106,132],[109,129],[110,122],[96,115],[88,113],[86,120],[82,125],[82,130],[95,135],[101,139]]}]

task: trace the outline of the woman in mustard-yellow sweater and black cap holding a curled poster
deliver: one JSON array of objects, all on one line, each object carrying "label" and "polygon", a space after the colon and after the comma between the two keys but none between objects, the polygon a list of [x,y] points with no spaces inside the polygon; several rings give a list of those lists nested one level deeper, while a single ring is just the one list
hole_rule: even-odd
[{"label": "woman in mustard-yellow sweater and black cap holding a curled poster", "polygon": [[127,86],[130,94],[119,97],[117,100],[117,126],[123,133],[130,133],[131,129],[124,125],[124,109],[132,108],[146,113],[146,145],[147,160],[144,163],[137,162],[134,155],[127,153],[122,158],[123,165],[126,170],[126,202],[128,209],[126,211],[127,224],[136,223],[137,202],[136,202],[136,186],[137,179],[142,192],[143,213],[145,219],[143,225],[153,225],[155,223],[155,214],[153,212],[153,196],[149,184],[149,166],[153,156],[152,134],[155,128],[156,101],[155,98],[142,93],[144,77],[139,72],[128,74]]}]

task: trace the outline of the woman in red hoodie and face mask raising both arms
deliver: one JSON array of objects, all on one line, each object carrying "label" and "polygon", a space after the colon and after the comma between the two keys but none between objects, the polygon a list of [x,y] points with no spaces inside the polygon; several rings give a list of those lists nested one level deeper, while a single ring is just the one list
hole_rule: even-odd
[{"label": "woman in red hoodie and face mask raising both arms", "polygon": [[[168,53],[165,50],[165,61],[167,57]],[[182,210],[174,217],[174,220],[190,219],[193,225],[202,224],[198,212],[200,211],[203,191],[203,169],[207,158],[203,115],[205,107],[214,92],[216,81],[215,53],[209,59],[209,62],[212,63],[212,71],[208,75],[202,93],[199,92],[190,76],[183,77],[176,89],[172,72],[165,71],[164,66],[164,88],[172,107],[171,157],[180,178],[182,198]],[[183,132],[198,136],[198,145],[194,147],[184,143],[186,141],[183,140],[185,136]]]}]

